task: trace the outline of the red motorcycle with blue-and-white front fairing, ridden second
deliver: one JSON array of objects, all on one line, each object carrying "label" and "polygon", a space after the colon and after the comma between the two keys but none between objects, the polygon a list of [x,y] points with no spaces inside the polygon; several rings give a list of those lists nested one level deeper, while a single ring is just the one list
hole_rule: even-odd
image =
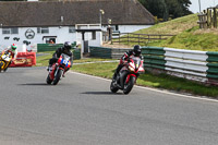
[{"label": "red motorcycle with blue-and-white front fairing, ridden second", "polygon": [[61,57],[58,59],[58,62],[52,64],[52,70],[49,70],[49,74],[46,81],[47,84],[58,84],[65,71],[71,68],[70,59],[71,58],[68,55],[61,55]]}]

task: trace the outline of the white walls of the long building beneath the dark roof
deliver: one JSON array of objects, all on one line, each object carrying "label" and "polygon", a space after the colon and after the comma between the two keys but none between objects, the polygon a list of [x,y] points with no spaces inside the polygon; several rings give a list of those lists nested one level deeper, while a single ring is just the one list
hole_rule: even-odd
[{"label": "white walls of the long building beneath the dark roof", "polygon": [[[152,25],[119,25],[120,33],[133,33],[143,28],[148,28]],[[95,28],[94,26],[85,26],[85,28]],[[111,27],[116,27],[111,25]],[[32,29],[35,33],[35,37],[33,39],[27,39],[25,33],[27,29]],[[102,26],[102,31],[107,31],[107,26]],[[12,44],[17,44],[19,49],[23,51],[24,47],[23,41],[31,41],[31,45],[27,46],[31,48],[35,48],[37,44],[45,44],[44,36],[57,36],[56,44],[63,44],[64,41],[71,41],[76,44],[81,44],[82,41],[82,33],[69,33],[69,26],[61,27],[49,27],[48,34],[38,34],[37,27],[20,27],[19,34],[2,34],[2,28],[0,28],[0,50],[7,48]],[[9,39],[4,39],[4,37],[10,37]],[[13,38],[20,38],[19,41]],[[96,32],[96,39],[92,39],[92,33],[85,33],[85,40],[88,40],[89,46],[101,46],[102,45],[102,33]]]}]

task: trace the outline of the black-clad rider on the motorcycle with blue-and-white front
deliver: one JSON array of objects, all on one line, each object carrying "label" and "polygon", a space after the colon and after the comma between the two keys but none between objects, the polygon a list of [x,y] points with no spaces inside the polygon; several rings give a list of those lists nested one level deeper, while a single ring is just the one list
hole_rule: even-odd
[{"label": "black-clad rider on the motorcycle with blue-and-white front", "polygon": [[[63,44],[63,47],[60,47],[56,50],[56,52],[53,53],[52,58],[49,60],[49,65],[48,65],[48,71],[52,70],[52,64],[56,63],[58,61],[58,59],[60,58],[61,53],[68,55],[69,57],[71,57],[70,61],[72,63],[72,59],[73,59],[73,53],[71,52],[71,48],[72,45],[70,41],[65,41]],[[72,67],[72,65],[71,65]],[[68,69],[66,71],[69,71],[70,69]],[[65,72],[66,72],[65,71]],[[64,74],[63,74],[64,77]]]}]

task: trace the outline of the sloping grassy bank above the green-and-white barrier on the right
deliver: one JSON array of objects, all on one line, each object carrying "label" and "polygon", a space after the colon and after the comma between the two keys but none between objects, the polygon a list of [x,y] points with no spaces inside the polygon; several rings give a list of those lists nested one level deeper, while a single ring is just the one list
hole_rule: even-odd
[{"label": "sloping grassy bank above the green-and-white barrier on the right", "polygon": [[[189,50],[218,51],[218,28],[199,29],[197,14],[156,24],[135,34],[171,34],[167,40],[154,40],[145,46],[169,47]],[[130,44],[133,46],[135,44]],[[141,44],[143,45],[143,44]]]}]

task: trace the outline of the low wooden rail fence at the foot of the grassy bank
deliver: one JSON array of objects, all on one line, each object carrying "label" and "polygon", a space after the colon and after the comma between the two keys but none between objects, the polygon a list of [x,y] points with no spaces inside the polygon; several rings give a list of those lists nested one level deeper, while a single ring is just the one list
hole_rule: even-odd
[{"label": "low wooden rail fence at the foot of the grassy bank", "polygon": [[146,45],[152,40],[168,39],[174,35],[159,35],[159,34],[134,34],[134,33],[113,33],[111,43],[123,43],[123,44],[138,44]]}]

